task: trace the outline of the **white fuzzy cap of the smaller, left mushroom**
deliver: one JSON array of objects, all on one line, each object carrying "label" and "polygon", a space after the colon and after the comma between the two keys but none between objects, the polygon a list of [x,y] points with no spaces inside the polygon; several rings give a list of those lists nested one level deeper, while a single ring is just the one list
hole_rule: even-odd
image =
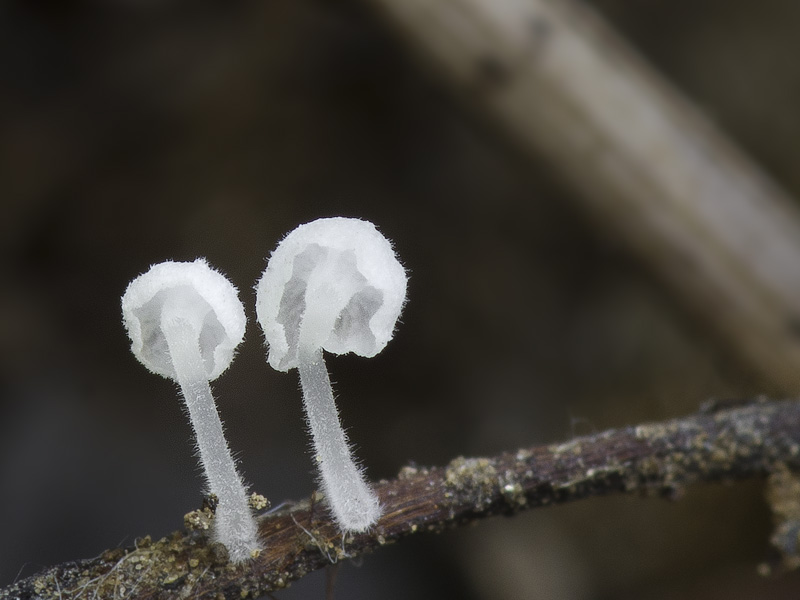
[{"label": "white fuzzy cap of the smaller, left mushroom", "polygon": [[164,303],[179,296],[180,317],[197,330],[208,379],[219,377],[233,360],[246,324],[236,288],[205,259],[166,261],[130,282],[122,296],[122,317],[131,352],[153,373],[177,380],[161,328]]}]

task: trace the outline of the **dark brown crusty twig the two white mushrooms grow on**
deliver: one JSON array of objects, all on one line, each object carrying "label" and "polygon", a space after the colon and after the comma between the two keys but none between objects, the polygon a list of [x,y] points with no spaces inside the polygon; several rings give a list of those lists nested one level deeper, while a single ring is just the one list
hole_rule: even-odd
[{"label": "dark brown crusty twig the two white mushrooms grow on", "polygon": [[346,539],[324,503],[299,502],[261,518],[266,550],[239,566],[209,543],[206,507],[187,515],[186,531],[58,565],[0,590],[0,600],[257,597],[342,558],[491,515],[618,492],[676,497],[698,481],[774,475],[792,483],[798,470],[800,401],[717,404],[683,419],[563,444],[457,458],[446,467],[405,467],[375,486],[384,507],[375,528]]}]

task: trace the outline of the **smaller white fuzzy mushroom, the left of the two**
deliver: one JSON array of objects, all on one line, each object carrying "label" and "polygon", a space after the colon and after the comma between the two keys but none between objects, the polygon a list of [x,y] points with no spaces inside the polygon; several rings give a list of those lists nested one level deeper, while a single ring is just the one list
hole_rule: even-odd
[{"label": "smaller white fuzzy mushroom, the left of the two", "polygon": [[167,261],[131,281],[122,315],[139,362],[180,385],[208,491],[218,500],[215,540],[234,562],[256,555],[258,530],[209,385],[228,368],[244,336],[236,288],[203,259]]}]

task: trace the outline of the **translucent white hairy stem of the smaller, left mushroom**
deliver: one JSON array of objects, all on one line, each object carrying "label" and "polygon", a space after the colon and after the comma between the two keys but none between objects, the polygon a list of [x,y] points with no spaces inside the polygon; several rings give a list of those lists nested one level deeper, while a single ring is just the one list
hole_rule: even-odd
[{"label": "translucent white hairy stem of the smaller, left mushroom", "polygon": [[170,304],[165,303],[161,329],[189,411],[209,489],[217,496],[215,536],[228,549],[231,560],[239,562],[251,558],[253,551],[260,548],[258,531],[247,491],[222,431],[200,354],[198,329],[189,320],[175,313],[170,315]]}]

